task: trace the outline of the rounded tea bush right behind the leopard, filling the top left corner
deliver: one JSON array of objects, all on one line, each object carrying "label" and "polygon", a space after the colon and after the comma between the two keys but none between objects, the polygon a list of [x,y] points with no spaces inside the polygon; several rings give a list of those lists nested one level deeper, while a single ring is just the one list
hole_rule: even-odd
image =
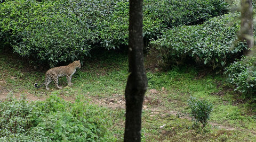
[{"label": "rounded tea bush right behind the leopard, filling the top left corner", "polygon": [[5,2],[0,9],[2,42],[19,55],[50,66],[89,55],[94,34],[59,1]]}]

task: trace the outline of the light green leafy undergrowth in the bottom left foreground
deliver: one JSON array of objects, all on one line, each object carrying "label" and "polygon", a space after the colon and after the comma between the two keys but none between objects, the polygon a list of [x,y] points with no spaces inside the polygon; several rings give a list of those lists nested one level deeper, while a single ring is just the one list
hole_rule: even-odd
[{"label": "light green leafy undergrowth in the bottom left foreground", "polygon": [[[97,111],[95,111],[97,110]],[[112,141],[103,109],[52,95],[29,103],[12,97],[0,103],[1,141]]]}]

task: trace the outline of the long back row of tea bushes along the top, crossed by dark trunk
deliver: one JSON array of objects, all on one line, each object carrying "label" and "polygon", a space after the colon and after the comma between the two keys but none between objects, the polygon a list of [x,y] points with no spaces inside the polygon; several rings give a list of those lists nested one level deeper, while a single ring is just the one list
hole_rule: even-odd
[{"label": "long back row of tea bushes along the top, crossed by dark trunk", "polygon": [[[226,12],[222,0],[145,0],[145,41],[163,28],[197,24]],[[26,1],[0,4],[0,42],[23,57],[55,66],[88,56],[92,48],[128,44],[129,1]]]}]

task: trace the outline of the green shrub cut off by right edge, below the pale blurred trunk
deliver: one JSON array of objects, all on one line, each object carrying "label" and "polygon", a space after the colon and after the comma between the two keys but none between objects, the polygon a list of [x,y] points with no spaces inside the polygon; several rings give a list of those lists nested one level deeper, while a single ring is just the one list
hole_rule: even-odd
[{"label": "green shrub cut off by right edge, below the pale blurred trunk", "polygon": [[[243,57],[225,68],[227,81],[236,86],[235,90],[249,96],[256,93],[256,57]],[[255,97],[255,95],[254,95]]]}]

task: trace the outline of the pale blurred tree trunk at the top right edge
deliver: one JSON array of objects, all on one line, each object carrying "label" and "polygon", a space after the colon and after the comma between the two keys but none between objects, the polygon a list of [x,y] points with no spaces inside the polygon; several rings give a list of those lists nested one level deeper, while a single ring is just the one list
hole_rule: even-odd
[{"label": "pale blurred tree trunk at the top right edge", "polygon": [[244,55],[249,55],[254,46],[253,41],[253,8],[252,0],[241,0],[241,28],[240,38],[246,40],[249,50],[244,51]]}]

